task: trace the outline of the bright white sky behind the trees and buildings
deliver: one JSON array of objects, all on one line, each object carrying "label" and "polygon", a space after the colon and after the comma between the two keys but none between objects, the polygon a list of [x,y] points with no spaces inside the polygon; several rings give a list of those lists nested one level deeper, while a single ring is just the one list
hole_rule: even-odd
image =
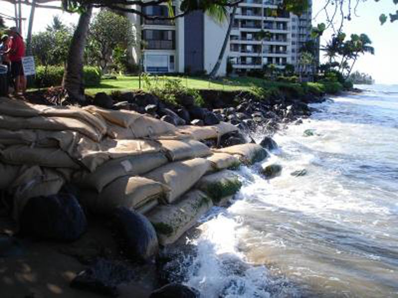
[{"label": "bright white sky behind the trees and buildings", "polygon": [[[313,16],[321,11],[326,0],[313,0]],[[3,14],[14,15],[14,6],[10,3],[0,0],[0,12]],[[30,7],[22,5],[22,15],[28,18]],[[379,15],[381,13],[390,13],[398,10],[398,4],[394,4],[393,0],[367,0],[360,2],[357,14],[353,16],[351,21],[345,21],[343,31],[348,34],[366,33],[373,42],[375,47],[375,55],[366,54],[362,56],[354,67],[354,71],[360,71],[371,74],[376,79],[376,83],[398,83],[398,21],[391,23],[386,22],[380,25]],[[78,14],[69,14],[60,10],[53,9],[36,9],[33,32],[39,32],[45,29],[47,24],[51,23],[54,15],[60,15],[62,20],[69,23],[77,23]],[[336,21],[339,21],[336,19]],[[313,25],[326,22],[324,12],[318,14],[313,20]],[[13,25],[12,21],[7,21],[8,26]],[[26,34],[27,21],[23,24],[23,34]],[[321,40],[321,45],[330,39],[333,31],[328,29]],[[321,52],[322,55],[322,52]]]}]

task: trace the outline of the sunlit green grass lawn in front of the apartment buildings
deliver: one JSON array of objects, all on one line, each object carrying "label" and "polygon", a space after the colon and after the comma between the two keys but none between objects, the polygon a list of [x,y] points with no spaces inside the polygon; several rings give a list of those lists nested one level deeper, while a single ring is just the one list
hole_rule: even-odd
[{"label": "sunlit green grass lawn in front of the apartment buildings", "polygon": [[[220,78],[209,80],[205,78],[193,77],[177,77],[177,76],[152,76],[150,77],[153,85],[162,87],[165,78],[180,79],[181,82],[193,89],[212,89],[212,90],[248,90],[251,86],[261,85],[264,79],[254,77],[236,77],[236,78]],[[142,89],[145,90],[145,84],[141,81]],[[118,76],[117,79],[103,79],[100,86],[86,88],[86,93],[94,95],[98,92],[110,93],[112,91],[126,91],[139,88],[138,76]]]}]

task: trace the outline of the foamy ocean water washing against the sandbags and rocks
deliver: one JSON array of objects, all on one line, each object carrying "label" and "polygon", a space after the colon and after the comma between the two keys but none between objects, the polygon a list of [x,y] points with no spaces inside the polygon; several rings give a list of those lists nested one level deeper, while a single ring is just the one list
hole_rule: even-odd
[{"label": "foamy ocean water washing against the sandbags and rocks", "polygon": [[187,285],[206,298],[398,297],[398,85],[359,87],[275,135],[264,164],[281,176],[241,168],[233,204],[187,239]]}]

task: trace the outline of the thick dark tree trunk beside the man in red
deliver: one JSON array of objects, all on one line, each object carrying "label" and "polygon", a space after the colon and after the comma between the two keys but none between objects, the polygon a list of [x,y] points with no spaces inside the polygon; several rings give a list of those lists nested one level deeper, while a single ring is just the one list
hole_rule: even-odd
[{"label": "thick dark tree trunk beside the man in red", "polygon": [[93,7],[88,6],[86,11],[80,15],[78,25],[75,29],[71,45],[69,47],[64,78],[62,80],[62,86],[67,91],[68,95],[74,100],[78,101],[85,100],[83,61],[92,11]]}]

